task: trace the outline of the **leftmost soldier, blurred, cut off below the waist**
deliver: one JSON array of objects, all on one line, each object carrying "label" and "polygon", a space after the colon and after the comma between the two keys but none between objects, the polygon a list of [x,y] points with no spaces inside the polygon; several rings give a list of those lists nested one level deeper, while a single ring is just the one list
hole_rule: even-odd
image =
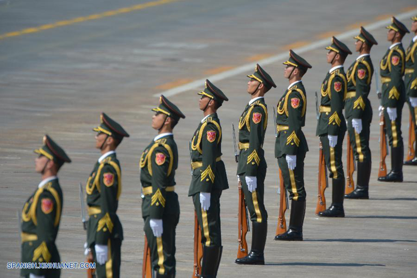
[{"label": "leftmost soldier, blurred, cut off below the waist", "polygon": [[[23,263],[61,262],[55,239],[61,221],[63,193],[59,186],[58,171],[70,158],[64,150],[45,135],[44,145],[34,150],[39,156],[35,170],[42,175],[42,181],[29,196],[22,211],[21,238]],[[60,269],[22,269],[26,278],[60,277]]]}]

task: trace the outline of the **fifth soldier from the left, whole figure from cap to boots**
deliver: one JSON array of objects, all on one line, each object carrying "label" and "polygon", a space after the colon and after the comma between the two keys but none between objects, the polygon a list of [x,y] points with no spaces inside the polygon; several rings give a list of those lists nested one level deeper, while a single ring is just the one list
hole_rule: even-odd
[{"label": "fifth soldier from the left, whole figure from cap to boots", "polygon": [[237,258],[237,264],[260,264],[263,265],[268,214],[263,204],[263,194],[266,175],[266,161],[262,149],[268,123],[268,111],[266,110],[264,94],[276,88],[272,78],[259,64],[255,72],[248,75],[247,92],[251,100],[239,119],[239,161],[237,175],[242,184],[245,202],[249,209],[252,221],[252,247],[250,253]]}]

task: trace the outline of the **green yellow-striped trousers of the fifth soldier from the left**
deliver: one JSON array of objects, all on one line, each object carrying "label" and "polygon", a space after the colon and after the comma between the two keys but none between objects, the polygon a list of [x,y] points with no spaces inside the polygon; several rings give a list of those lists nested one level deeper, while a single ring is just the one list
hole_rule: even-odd
[{"label": "green yellow-striped trousers of the fifth soldier from the left", "polygon": [[242,184],[243,194],[245,195],[245,202],[248,206],[249,216],[252,222],[267,222],[268,213],[263,204],[264,181],[266,175],[266,167],[258,167],[257,172],[257,187],[254,192],[249,192],[246,184],[246,175],[239,175],[240,183]]}]

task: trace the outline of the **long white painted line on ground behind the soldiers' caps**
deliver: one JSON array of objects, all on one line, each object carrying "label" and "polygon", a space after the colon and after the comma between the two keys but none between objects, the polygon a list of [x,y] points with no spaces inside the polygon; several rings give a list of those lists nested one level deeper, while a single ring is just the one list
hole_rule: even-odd
[{"label": "long white painted line on ground behind the soldiers' caps", "polygon": [[[406,19],[408,17],[414,16],[414,15],[416,15],[416,13],[417,13],[417,9],[414,9],[414,10],[409,11],[409,12],[398,14],[398,15],[395,16],[395,18],[397,18],[398,20],[402,20],[402,19]],[[375,30],[375,29],[378,29],[378,28],[381,28],[381,27],[385,27],[385,26],[389,25],[390,23],[391,23],[391,18],[380,20],[380,21],[377,21],[375,23],[366,25],[364,27],[365,27],[366,30],[372,31],[372,30]],[[349,38],[349,37],[353,37],[353,36],[358,34],[358,30],[359,30],[359,28],[355,28],[355,29],[352,29],[350,31],[340,33],[340,34],[336,35],[336,37],[338,39],[346,39],[346,38]],[[308,52],[308,51],[311,51],[311,50],[314,50],[314,49],[317,49],[317,48],[320,48],[320,47],[327,46],[330,43],[330,39],[331,39],[331,37],[321,39],[321,40],[318,40],[316,42],[310,43],[306,46],[295,48],[293,50],[297,54],[302,54],[302,53],[305,53],[305,52]],[[272,63],[277,62],[277,61],[284,61],[284,59],[286,59],[287,57],[288,57],[288,51],[282,52],[282,53],[277,54],[275,56],[271,56],[271,57],[259,60],[258,63],[261,66],[268,65],[268,64],[272,64]],[[240,67],[236,67],[234,69],[227,70],[227,71],[224,71],[224,72],[221,72],[221,73],[218,73],[218,74],[210,75],[206,78],[198,79],[198,80],[195,80],[193,82],[190,82],[190,83],[187,83],[187,84],[184,84],[184,85],[172,88],[172,89],[165,90],[161,93],[154,94],[154,97],[159,97],[161,94],[163,94],[166,97],[170,97],[170,96],[177,95],[177,94],[182,93],[182,92],[187,91],[187,90],[192,90],[192,89],[201,87],[202,84],[204,84],[206,82],[206,79],[209,79],[211,82],[216,82],[216,81],[223,80],[223,79],[226,79],[226,78],[229,78],[229,77],[232,77],[232,76],[235,76],[235,75],[239,75],[239,74],[242,74],[242,73],[251,74],[252,71],[254,70],[254,68],[255,68],[255,62],[247,63],[247,64],[244,64]]]}]

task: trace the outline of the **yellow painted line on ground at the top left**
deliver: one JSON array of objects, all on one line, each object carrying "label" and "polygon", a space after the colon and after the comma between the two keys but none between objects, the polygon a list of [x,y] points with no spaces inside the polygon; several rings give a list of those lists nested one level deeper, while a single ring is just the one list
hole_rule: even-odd
[{"label": "yellow painted line on ground at the top left", "polygon": [[20,31],[4,33],[4,34],[0,35],[0,40],[5,39],[5,38],[20,36],[20,35],[24,35],[24,34],[40,32],[42,30],[58,28],[58,27],[61,27],[61,26],[73,25],[73,24],[76,24],[76,23],[79,23],[79,22],[96,20],[96,19],[101,19],[101,18],[104,18],[104,17],[109,17],[109,16],[119,15],[119,14],[123,14],[123,13],[129,13],[129,12],[133,12],[133,11],[143,10],[143,9],[146,9],[146,8],[155,7],[155,6],[168,4],[168,3],[172,3],[172,2],[178,2],[178,1],[180,1],[180,0],[156,0],[156,1],[151,1],[151,2],[146,2],[146,3],[142,3],[142,4],[133,5],[133,6],[130,6],[130,7],[120,8],[120,9],[117,9],[117,10],[106,11],[106,12],[103,12],[103,13],[100,13],[100,14],[92,14],[92,15],[77,17],[77,18],[73,18],[73,19],[69,19],[69,20],[62,20],[62,21],[58,21],[58,22],[55,22],[55,23],[52,23],[52,24],[46,24],[46,25],[41,25],[41,26],[38,26],[38,27],[22,29]]}]

